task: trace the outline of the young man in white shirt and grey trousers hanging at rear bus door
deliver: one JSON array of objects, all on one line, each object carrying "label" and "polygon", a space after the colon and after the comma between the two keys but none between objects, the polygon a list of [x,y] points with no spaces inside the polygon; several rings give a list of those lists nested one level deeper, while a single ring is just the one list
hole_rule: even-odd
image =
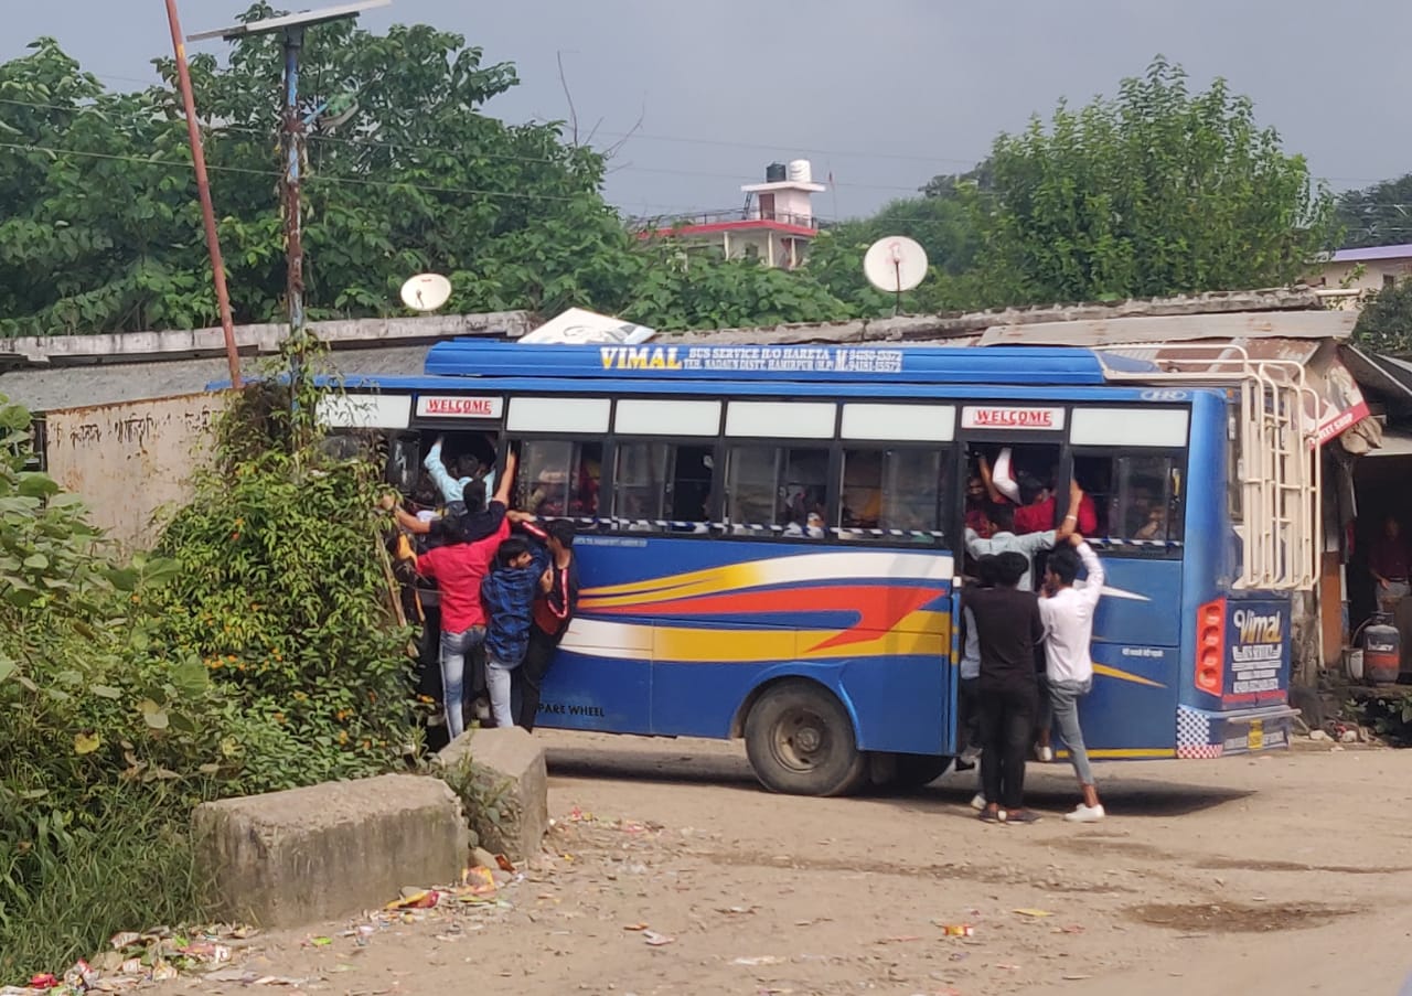
[{"label": "young man in white shirt and grey trousers hanging at rear bus door", "polygon": [[[1089,750],[1079,725],[1079,699],[1093,691],[1093,615],[1103,593],[1103,564],[1077,533],[1069,537],[1070,547],[1060,547],[1049,555],[1045,568],[1045,598],[1039,599],[1039,617],[1045,624],[1045,665],[1049,678],[1049,702],[1055,723],[1069,747],[1083,802],[1065,819],[1096,824],[1104,818],[1099,788],[1089,764]],[[1087,581],[1076,586],[1080,564]]]}]

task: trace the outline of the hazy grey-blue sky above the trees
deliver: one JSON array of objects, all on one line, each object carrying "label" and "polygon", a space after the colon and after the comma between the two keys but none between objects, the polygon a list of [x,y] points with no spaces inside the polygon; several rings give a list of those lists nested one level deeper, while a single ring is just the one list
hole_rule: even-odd
[{"label": "hazy grey-blue sky above the trees", "polygon": [[[133,88],[171,55],[162,0],[6,6],[0,59],[52,35]],[[223,27],[244,7],[181,0],[182,27]],[[833,175],[818,215],[864,215],[969,168],[1060,97],[1114,93],[1156,54],[1195,86],[1224,76],[1334,189],[1412,171],[1408,0],[394,0],[363,17],[374,31],[395,21],[514,62],[521,85],[486,107],[510,121],[568,117],[562,57],[580,134],[621,143],[606,192],[631,215],[738,208],[741,184],[791,158]]]}]

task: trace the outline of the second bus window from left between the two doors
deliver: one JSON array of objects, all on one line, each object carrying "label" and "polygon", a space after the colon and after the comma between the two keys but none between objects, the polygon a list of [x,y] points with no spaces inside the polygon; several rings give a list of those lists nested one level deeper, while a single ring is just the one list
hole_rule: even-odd
[{"label": "second bus window from left between the two doors", "polygon": [[700,533],[710,521],[710,446],[620,442],[613,517],[633,533]]}]

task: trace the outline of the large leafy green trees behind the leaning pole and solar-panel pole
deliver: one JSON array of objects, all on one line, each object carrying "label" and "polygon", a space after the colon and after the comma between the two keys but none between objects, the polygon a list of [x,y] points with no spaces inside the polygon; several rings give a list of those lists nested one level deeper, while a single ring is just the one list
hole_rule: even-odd
[{"label": "large leafy green trees behind the leaning pole and solar-panel pole", "polygon": [[[267,4],[246,20],[270,16]],[[192,59],[233,308],[282,311],[278,40]],[[169,61],[158,68],[172,78]],[[514,86],[460,35],[350,21],[311,31],[301,110],[311,318],[383,314],[408,275],[452,275],[452,308],[616,307],[638,271],[603,201],[603,157],[556,123],[483,113]],[[110,93],[52,40],[0,65],[0,332],[216,321],[185,126],[172,88]]]}]

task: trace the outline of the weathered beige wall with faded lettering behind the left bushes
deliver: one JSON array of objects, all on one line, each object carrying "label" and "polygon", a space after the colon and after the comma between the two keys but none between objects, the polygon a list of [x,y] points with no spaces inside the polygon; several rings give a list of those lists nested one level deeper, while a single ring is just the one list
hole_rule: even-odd
[{"label": "weathered beige wall with faded lettering behind the left bushes", "polygon": [[208,428],[222,394],[181,394],[51,410],[44,420],[49,475],[128,550],[150,547],[152,517],[191,497],[192,469],[210,456]]}]

